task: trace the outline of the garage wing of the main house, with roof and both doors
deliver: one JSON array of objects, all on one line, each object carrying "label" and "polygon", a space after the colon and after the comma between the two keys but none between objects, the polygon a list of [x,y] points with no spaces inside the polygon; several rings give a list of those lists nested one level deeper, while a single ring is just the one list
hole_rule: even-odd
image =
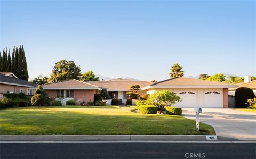
[{"label": "garage wing of the main house, with roof and both doors", "polygon": [[142,88],[146,93],[153,94],[156,90],[170,90],[181,97],[182,102],[175,106],[182,108],[227,108],[228,88],[237,85],[230,83],[207,81],[186,77],[175,77],[156,82]]}]

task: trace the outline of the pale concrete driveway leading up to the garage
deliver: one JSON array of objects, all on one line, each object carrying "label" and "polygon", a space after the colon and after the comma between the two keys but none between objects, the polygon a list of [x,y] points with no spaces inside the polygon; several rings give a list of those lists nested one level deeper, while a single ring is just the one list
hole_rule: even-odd
[{"label": "pale concrete driveway leading up to the garage", "polygon": [[[193,108],[182,108],[182,116],[195,120]],[[202,108],[200,122],[212,125],[217,136],[256,140],[256,113],[234,108]]]}]

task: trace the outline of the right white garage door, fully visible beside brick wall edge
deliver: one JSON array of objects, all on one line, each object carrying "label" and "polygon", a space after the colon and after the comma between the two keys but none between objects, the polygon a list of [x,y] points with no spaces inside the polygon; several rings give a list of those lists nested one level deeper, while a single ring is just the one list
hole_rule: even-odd
[{"label": "right white garage door, fully visible beside brick wall edge", "polygon": [[222,91],[209,90],[204,91],[204,107],[205,108],[222,108]]}]

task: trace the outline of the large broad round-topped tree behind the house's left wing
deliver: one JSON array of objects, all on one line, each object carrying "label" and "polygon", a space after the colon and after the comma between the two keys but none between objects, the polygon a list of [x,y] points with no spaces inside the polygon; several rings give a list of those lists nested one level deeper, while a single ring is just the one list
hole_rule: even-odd
[{"label": "large broad round-topped tree behind the house's left wing", "polygon": [[49,82],[59,82],[63,80],[79,79],[81,76],[80,66],[76,65],[74,61],[60,60],[55,63],[49,78]]}]

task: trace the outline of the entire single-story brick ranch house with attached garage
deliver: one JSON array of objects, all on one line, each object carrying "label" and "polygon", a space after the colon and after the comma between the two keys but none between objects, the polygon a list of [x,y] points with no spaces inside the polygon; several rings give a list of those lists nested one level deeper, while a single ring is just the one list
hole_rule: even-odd
[{"label": "entire single-story brick ranch house with attached garage", "polygon": [[[42,85],[43,89],[52,99],[63,96],[62,103],[65,105],[69,99],[79,101],[93,101],[94,94],[100,94],[102,89],[107,89],[111,98],[122,99],[126,103],[126,92],[129,85],[140,85],[140,95],[153,94],[156,90],[171,90],[182,98],[182,102],[176,106],[202,107],[202,108],[227,108],[228,88],[235,88],[237,85],[230,83],[206,81],[186,77],[177,77],[160,82],[131,81],[131,80],[110,80],[110,81],[78,81],[67,80]],[[110,104],[110,100],[107,102]]]}]

